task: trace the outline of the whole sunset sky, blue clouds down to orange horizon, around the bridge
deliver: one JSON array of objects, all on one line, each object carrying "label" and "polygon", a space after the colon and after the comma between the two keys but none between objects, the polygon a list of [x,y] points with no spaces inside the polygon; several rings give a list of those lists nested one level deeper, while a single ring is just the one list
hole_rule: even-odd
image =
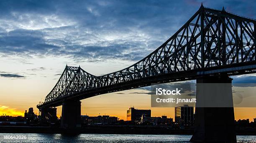
[{"label": "whole sunset sky, blue clouds down to orange horizon, around the bridge", "polygon": [[[256,18],[253,0],[1,0],[0,115],[23,115],[44,101],[66,64],[102,75],[138,62],[205,7]],[[254,74],[233,82],[256,82]],[[174,108],[151,108],[143,89],[82,100],[82,114],[126,120],[129,107],[174,117]],[[236,119],[256,117],[256,108],[236,108]],[[58,108],[61,115],[61,107]]]}]

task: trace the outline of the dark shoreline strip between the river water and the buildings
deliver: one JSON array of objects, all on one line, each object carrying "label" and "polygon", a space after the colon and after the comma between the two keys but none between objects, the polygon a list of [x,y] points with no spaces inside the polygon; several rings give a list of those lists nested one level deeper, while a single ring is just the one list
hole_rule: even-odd
[{"label": "dark shoreline strip between the river water and the buildings", "polygon": [[[44,126],[0,126],[0,133],[192,135],[194,130],[134,126],[89,126],[76,129]],[[256,129],[236,130],[236,135],[256,136]]]}]

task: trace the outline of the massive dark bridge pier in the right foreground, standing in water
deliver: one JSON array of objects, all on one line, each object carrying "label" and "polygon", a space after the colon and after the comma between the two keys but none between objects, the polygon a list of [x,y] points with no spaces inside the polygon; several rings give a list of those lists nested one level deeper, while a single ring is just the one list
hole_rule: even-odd
[{"label": "massive dark bridge pier in the right foreground, standing in water", "polygon": [[[205,83],[226,83],[209,84]],[[191,142],[236,143],[235,118],[232,96],[232,79],[228,76],[202,77],[197,79],[197,103],[195,108],[195,132]],[[218,101],[227,107],[198,107],[200,103],[218,105]],[[200,102],[200,103],[199,103]],[[212,103],[210,103],[212,104]]]}]

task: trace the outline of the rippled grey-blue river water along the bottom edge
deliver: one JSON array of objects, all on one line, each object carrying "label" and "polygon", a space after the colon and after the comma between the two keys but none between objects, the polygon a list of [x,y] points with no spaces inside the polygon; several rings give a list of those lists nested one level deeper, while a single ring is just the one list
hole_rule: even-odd
[{"label": "rippled grey-blue river water along the bottom edge", "polygon": [[[26,135],[27,140],[4,140],[4,135]],[[67,136],[62,134],[10,134],[0,133],[2,143],[189,143],[191,135],[109,135],[79,134]],[[256,136],[237,136],[238,141],[256,141]]]}]

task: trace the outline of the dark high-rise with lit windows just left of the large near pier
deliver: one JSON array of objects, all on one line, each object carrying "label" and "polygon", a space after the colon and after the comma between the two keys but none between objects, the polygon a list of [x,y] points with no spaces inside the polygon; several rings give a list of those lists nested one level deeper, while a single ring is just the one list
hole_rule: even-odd
[{"label": "dark high-rise with lit windows just left of the large near pier", "polygon": [[175,122],[180,126],[193,126],[194,107],[188,105],[175,107]]}]

